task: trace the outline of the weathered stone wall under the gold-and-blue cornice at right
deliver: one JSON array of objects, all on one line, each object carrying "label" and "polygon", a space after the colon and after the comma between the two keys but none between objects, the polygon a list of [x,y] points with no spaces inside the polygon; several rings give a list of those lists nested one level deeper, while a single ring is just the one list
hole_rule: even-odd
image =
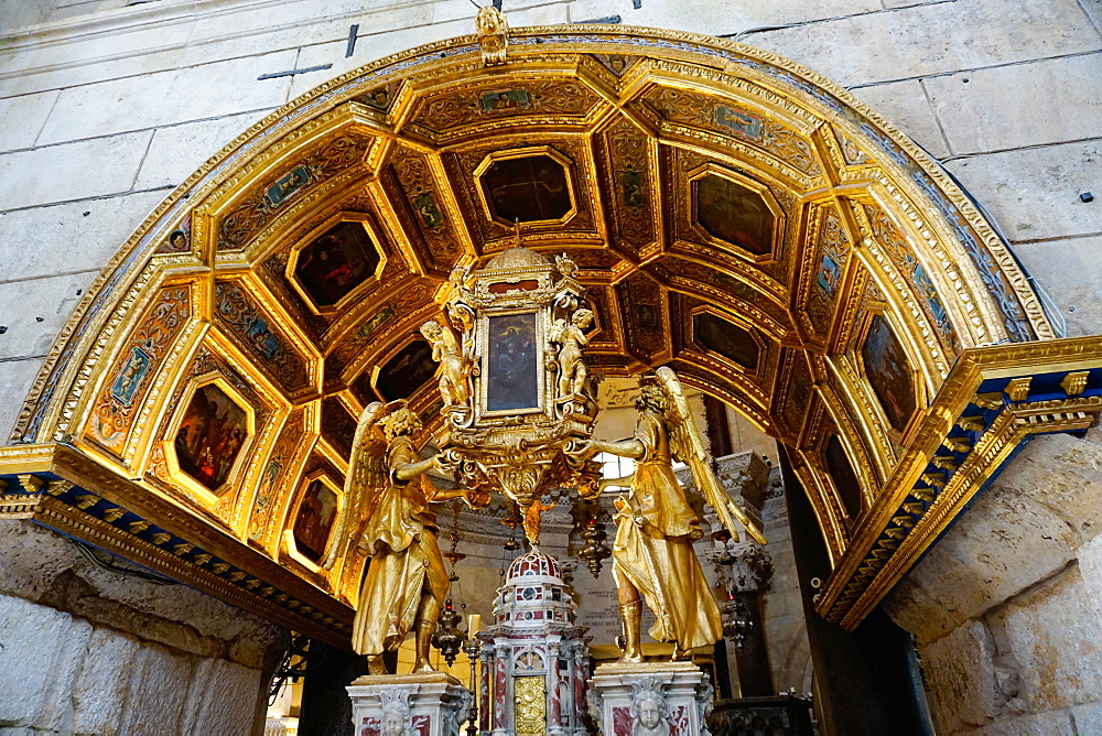
[{"label": "weathered stone wall under the gold-and-blue cornice at right", "polygon": [[1102,427],[1034,440],[893,592],[938,733],[1102,733]]}]

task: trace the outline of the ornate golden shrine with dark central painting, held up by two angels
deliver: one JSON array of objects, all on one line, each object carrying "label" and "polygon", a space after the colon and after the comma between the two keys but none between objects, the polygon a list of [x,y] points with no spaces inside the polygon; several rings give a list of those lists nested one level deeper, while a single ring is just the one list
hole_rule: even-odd
[{"label": "ornate golden shrine with dark central painting, held up by two angels", "polygon": [[461,484],[519,504],[533,544],[544,493],[599,475],[568,457],[597,414],[582,359],[593,312],[575,270],[525,248],[518,226],[515,246],[485,268],[453,271],[445,324],[422,326],[440,361],[444,457]]}]

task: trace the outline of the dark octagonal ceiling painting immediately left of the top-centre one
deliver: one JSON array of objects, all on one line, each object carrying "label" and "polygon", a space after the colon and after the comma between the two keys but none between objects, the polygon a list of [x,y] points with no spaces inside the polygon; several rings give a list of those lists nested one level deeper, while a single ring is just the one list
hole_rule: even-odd
[{"label": "dark octagonal ceiling painting immediately left of the top-centre one", "polygon": [[294,275],[318,306],[333,306],[369,279],[379,251],[361,223],[338,223],[299,252]]}]

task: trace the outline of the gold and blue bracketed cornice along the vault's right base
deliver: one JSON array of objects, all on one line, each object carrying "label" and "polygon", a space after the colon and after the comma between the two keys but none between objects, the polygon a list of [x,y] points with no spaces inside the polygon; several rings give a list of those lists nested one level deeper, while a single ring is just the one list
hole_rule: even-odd
[{"label": "gold and blue bracketed cornice along the vault's right base", "polygon": [[852,630],[1037,434],[1102,414],[1102,345],[1081,337],[970,348],[861,520],[817,609]]}]

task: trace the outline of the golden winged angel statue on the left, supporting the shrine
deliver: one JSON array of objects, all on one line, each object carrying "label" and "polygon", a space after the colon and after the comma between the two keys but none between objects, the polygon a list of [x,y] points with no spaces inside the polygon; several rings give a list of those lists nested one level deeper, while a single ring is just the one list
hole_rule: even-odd
[{"label": "golden winged angel statue on the left, supporting the shrine", "polygon": [[371,558],[352,635],[353,648],[367,657],[371,674],[386,674],[382,653],[397,649],[411,630],[417,639],[413,671],[434,671],[429,645],[447,596],[447,572],[429,501],[473,498],[466,489],[436,488],[424,475],[442,463],[439,455],[419,458],[412,435],[420,429],[404,401],[375,402],[364,410],[345,480],[347,510],[322,563],[332,567],[352,541]]}]

